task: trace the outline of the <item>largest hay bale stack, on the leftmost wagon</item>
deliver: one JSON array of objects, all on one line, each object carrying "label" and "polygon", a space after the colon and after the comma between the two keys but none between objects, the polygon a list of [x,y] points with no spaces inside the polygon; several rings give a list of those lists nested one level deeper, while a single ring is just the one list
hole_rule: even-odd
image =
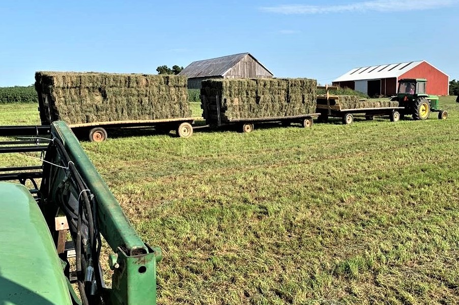
[{"label": "largest hay bale stack, on the leftmost wagon", "polygon": [[187,78],[177,75],[36,72],[50,120],[69,124],[191,116]]}]

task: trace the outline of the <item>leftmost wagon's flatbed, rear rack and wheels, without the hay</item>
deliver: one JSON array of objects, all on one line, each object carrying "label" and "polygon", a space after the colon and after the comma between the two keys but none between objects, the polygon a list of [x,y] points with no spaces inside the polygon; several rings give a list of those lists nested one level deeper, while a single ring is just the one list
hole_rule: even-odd
[{"label": "leftmost wagon's flatbed, rear rack and wheels, without the hay", "polygon": [[[51,97],[47,94],[38,94],[38,104],[40,120],[42,125],[50,125],[53,121],[49,110],[48,100]],[[119,120],[119,121],[94,121],[90,123],[67,122],[68,126],[76,132],[84,132],[89,136],[90,141],[101,142],[107,139],[107,129],[134,128],[134,127],[154,127],[161,132],[175,130],[177,135],[182,138],[189,138],[193,134],[191,124],[201,117],[180,117],[163,118],[151,120]]]}]

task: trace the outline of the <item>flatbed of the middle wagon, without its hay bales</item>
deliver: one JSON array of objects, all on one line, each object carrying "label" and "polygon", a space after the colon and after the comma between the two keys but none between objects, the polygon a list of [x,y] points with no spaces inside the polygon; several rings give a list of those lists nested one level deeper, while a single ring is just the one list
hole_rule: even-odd
[{"label": "flatbed of the middle wagon, without its hay bales", "polygon": [[[202,95],[201,99],[203,101],[207,100],[207,97]],[[209,105],[207,101],[203,103],[204,105]],[[254,123],[275,123],[279,122],[283,126],[289,126],[292,123],[299,123],[302,127],[308,128],[311,127],[314,123],[314,118],[319,117],[320,113],[307,113],[299,115],[285,115],[285,116],[270,116],[270,117],[252,117],[252,118],[236,118],[230,120],[222,120],[221,111],[220,111],[220,97],[215,96],[215,104],[209,105],[209,109],[204,110],[204,118],[206,123],[212,120],[212,123],[205,126],[200,126],[197,128],[204,127],[222,127],[222,126],[240,126],[240,130],[243,133],[248,133],[253,131]]]}]

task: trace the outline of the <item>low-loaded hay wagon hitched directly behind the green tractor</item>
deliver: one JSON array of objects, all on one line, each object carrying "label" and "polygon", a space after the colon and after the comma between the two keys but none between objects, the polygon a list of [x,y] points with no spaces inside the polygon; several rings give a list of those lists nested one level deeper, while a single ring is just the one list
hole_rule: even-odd
[{"label": "low-loaded hay wagon hitched directly behind the green tractor", "polygon": [[325,95],[317,96],[316,108],[320,113],[319,121],[324,123],[329,117],[339,117],[342,124],[351,124],[355,114],[365,115],[366,120],[372,120],[374,116],[389,116],[395,122],[400,119],[400,111],[405,109],[391,101],[367,101],[358,97],[330,95],[328,90],[336,90],[337,87],[318,88],[326,90]]}]

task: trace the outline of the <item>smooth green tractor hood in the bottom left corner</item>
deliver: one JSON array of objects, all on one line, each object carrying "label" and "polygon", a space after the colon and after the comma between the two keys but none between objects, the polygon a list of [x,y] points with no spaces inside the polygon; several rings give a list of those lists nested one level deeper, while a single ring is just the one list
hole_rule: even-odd
[{"label": "smooth green tractor hood in the bottom left corner", "polygon": [[0,182],[0,303],[71,304],[61,261],[35,199]]}]

